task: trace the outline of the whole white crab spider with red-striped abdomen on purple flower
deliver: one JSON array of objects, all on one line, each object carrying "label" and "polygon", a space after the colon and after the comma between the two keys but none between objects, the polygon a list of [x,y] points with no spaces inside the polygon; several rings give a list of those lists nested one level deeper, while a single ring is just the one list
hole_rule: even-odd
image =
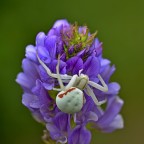
[{"label": "whole white crab spider with red-striped abdomen on purple flower", "polygon": [[[98,102],[93,90],[90,88],[90,86],[92,86],[103,92],[108,91],[107,85],[99,74],[98,78],[102,83],[102,86],[93,81],[89,81],[88,76],[81,73],[82,70],[79,71],[79,75],[70,76],[67,74],[59,74],[60,58],[58,58],[56,74],[50,71],[50,69],[41,61],[38,55],[37,58],[39,63],[46,70],[47,74],[58,79],[60,88],[53,88],[53,90],[60,91],[56,96],[56,104],[62,112],[72,114],[79,112],[82,109],[85,100],[83,90],[87,95],[92,97],[96,105],[99,106],[105,102],[105,100]],[[63,82],[68,84],[64,86]]]}]

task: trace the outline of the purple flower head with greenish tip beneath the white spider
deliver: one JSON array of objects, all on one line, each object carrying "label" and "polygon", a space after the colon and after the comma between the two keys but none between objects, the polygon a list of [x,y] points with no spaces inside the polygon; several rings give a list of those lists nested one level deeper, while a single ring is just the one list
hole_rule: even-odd
[{"label": "purple flower head with greenish tip beneath the white spider", "polygon": [[[102,132],[123,128],[123,119],[119,114],[123,105],[118,96],[120,85],[110,82],[115,66],[102,57],[102,43],[95,37],[96,33],[90,34],[86,26],[58,20],[47,34],[38,33],[35,46],[26,47],[23,72],[18,74],[16,82],[24,91],[22,103],[38,122],[45,125],[43,140],[46,143],[89,144],[91,132],[87,124]],[[102,85],[98,77],[101,75],[108,91],[86,83],[80,88],[84,93],[82,109],[74,114],[64,113],[56,104],[57,91],[53,90],[60,87],[59,81],[47,73],[38,58],[53,74],[57,73],[56,66],[60,61],[59,73],[63,76],[82,74],[88,77],[88,81]],[[69,81],[64,79],[64,86]],[[79,85],[82,84],[74,84],[75,87]],[[106,108],[96,105],[92,95],[98,101],[105,101]]]}]

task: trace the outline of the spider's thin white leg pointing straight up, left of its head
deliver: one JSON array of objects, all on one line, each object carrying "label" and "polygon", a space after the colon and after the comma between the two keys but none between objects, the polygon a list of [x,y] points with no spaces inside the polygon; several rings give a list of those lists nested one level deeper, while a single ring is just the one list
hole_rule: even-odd
[{"label": "spider's thin white leg pointing straight up, left of its head", "polygon": [[62,90],[64,90],[65,87],[63,85],[63,82],[62,82],[60,74],[59,74],[59,65],[60,65],[60,55],[58,55],[58,63],[57,63],[57,66],[56,66],[56,72],[57,72],[57,78],[58,78],[58,82],[59,82],[60,88]]}]

